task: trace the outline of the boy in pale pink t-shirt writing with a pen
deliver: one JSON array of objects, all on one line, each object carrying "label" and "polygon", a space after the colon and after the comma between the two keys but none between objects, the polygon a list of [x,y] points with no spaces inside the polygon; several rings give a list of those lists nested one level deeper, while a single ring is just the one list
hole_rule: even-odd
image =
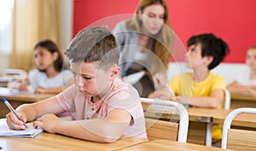
[{"label": "boy in pale pink t-shirt writing with a pen", "polygon": [[[119,78],[119,49],[106,27],[88,27],[73,39],[65,55],[75,84],[42,102],[21,105],[18,120],[8,113],[11,129],[24,130],[26,121],[44,131],[95,142],[115,142],[121,136],[147,137],[137,90]],[[55,114],[69,112],[72,121]]]}]

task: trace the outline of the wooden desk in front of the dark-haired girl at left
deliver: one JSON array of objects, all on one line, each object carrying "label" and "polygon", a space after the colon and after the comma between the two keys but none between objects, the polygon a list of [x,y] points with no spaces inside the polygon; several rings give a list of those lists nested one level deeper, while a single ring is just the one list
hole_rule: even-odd
[{"label": "wooden desk in front of the dark-haired girl at left", "polygon": [[[38,102],[44,100],[55,94],[29,94],[17,93],[9,90],[8,88],[0,87],[0,96],[4,96],[13,107],[18,107],[23,103]],[[2,102],[0,103],[0,118],[4,118],[9,113],[9,108]]]}]

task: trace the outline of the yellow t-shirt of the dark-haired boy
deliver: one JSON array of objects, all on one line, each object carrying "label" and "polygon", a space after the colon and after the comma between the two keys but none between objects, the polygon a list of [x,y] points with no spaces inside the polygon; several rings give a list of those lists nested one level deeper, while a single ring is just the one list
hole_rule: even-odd
[{"label": "yellow t-shirt of the dark-haired boy", "polygon": [[[173,78],[169,82],[169,86],[177,96],[210,96],[212,90],[225,90],[226,87],[224,78],[212,73],[199,83],[193,82],[192,73],[182,73]],[[218,108],[221,107],[223,104]],[[212,126],[212,138],[221,139],[221,129],[220,125]]]}]

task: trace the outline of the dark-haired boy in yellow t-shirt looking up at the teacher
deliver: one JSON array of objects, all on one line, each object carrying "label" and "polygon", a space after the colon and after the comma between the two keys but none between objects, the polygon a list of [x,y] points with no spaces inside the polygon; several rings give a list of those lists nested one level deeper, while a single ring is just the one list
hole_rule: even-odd
[{"label": "dark-haired boy in yellow t-shirt looking up at the teacher", "polygon": [[[177,96],[169,97],[170,93],[164,88],[148,97],[169,97],[171,101],[192,107],[221,107],[225,81],[223,77],[210,71],[224,60],[229,52],[228,45],[213,34],[200,34],[189,38],[188,46],[185,61],[193,73],[182,73],[170,81],[169,86]],[[218,128],[218,133],[212,131],[212,137],[221,138],[221,129]]]}]

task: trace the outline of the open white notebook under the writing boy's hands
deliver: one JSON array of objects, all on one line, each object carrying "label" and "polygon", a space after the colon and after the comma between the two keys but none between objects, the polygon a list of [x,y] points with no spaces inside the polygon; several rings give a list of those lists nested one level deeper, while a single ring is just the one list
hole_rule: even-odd
[{"label": "open white notebook under the writing boy's hands", "polygon": [[28,128],[24,131],[10,130],[6,122],[1,120],[0,136],[34,137],[44,131],[42,128],[35,129],[32,123],[27,123],[26,126]]}]

